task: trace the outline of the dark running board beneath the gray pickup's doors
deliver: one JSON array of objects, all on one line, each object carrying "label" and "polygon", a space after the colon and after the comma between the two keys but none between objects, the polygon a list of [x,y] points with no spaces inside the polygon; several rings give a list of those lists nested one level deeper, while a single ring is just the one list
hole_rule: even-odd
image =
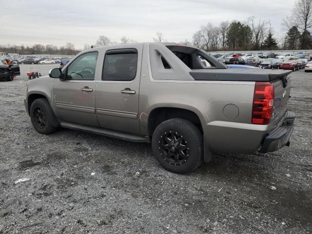
[{"label": "dark running board beneath the gray pickup's doors", "polygon": [[117,139],[128,140],[128,141],[133,141],[133,142],[151,143],[150,137],[139,136],[139,135],[131,134],[131,133],[124,133],[124,132],[106,129],[106,128],[99,128],[99,127],[89,126],[89,125],[80,125],[80,124],[70,123],[70,122],[60,122],[60,126],[63,128],[80,130],[83,132],[93,133],[93,134],[97,134],[97,135],[101,135],[105,137],[114,137]]}]

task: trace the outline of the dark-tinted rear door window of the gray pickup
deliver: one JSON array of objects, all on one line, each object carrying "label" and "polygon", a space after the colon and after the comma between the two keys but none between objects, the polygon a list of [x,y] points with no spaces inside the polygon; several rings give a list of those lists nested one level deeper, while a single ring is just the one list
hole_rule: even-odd
[{"label": "dark-tinted rear door window of the gray pickup", "polygon": [[137,53],[106,54],[102,80],[133,80],[137,75]]}]

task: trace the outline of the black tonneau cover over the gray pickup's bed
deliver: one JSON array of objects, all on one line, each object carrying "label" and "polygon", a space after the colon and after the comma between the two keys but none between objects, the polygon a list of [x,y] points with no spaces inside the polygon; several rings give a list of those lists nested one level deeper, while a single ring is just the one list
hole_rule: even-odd
[{"label": "black tonneau cover over the gray pickup's bed", "polygon": [[292,73],[268,69],[195,69],[190,72],[195,80],[272,81]]}]

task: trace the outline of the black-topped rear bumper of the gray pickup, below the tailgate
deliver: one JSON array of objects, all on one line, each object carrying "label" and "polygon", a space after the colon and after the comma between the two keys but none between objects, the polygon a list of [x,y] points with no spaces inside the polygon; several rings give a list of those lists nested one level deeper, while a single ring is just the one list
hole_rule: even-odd
[{"label": "black-topped rear bumper of the gray pickup, below the tailgate", "polygon": [[268,153],[279,150],[283,146],[290,145],[290,137],[294,128],[293,122],[296,115],[293,112],[287,111],[285,113],[282,124],[273,129],[268,136],[264,138],[263,144],[259,149],[260,153]]}]

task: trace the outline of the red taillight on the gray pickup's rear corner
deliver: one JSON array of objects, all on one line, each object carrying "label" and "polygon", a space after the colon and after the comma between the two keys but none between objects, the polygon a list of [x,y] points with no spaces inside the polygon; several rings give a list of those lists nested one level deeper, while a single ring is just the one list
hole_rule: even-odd
[{"label": "red taillight on the gray pickup's rear corner", "polygon": [[274,107],[274,87],[270,82],[255,82],[252,124],[269,124]]}]

